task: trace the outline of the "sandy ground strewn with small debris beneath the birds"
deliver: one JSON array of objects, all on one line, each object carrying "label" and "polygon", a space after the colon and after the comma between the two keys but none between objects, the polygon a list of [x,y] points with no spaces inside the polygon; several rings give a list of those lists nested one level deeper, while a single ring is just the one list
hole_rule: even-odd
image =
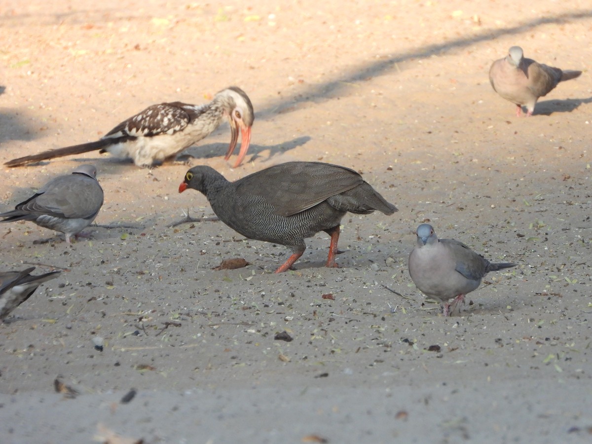
[{"label": "sandy ground strewn with small debris beneath the birds", "polygon": [[[338,163],[399,208],[343,219],[341,268],[324,268],[322,233],[275,275],[282,246],[220,222],[171,226],[213,216],[178,193],[184,165],[88,153],[2,169],[2,211],[81,163],[97,166],[105,204],[71,247],[31,223],[1,227],[2,271],[63,273],[0,325],[0,440],[590,442],[590,3],[271,4],[0,4],[2,162],[238,85],[256,110],[247,162],[224,162],[225,124],[188,150],[192,165],[234,180]],[[584,71],[532,118],[488,82],[514,44]],[[442,317],[407,273],[426,220],[520,265]],[[250,265],[213,269],[229,258]],[[284,331],[291,342],[274,339]]]}]

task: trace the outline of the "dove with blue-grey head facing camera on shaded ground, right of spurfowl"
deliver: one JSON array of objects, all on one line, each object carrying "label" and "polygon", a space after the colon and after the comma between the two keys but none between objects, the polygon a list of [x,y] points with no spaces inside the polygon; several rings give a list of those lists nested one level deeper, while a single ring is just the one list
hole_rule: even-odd
[{"label": "dove with blue-grey head facing camera on shaded ground, right of spurfowl", "polygon": [[448,316],[456,304],[464,302],[465,295],[477,289],[488,272],[516,265],[490,263],[458,240],[438,239],[430,224],[417,227],[417,245],[408,263],[416,287],[444,303],[444,316]]}]

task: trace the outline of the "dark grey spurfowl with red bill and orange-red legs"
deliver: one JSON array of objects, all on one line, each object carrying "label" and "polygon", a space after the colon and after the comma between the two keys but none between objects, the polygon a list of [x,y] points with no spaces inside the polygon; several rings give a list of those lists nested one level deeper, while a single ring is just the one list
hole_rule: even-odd
[{"label": "dark grey spurfowl with red bill and orange-red legs", "polygon": [[318,231],[331,236],[327,266],[336,267],[339,225],[348,211],[397,211],[354,170],[320,162],[281,163],[236,182],[209,166],[195,166],[186,173],[179,192],[187,188],[201,191],[231,229],[291,249],[292,255],[276,273],[287,271],[303,255],[304,239]]}]

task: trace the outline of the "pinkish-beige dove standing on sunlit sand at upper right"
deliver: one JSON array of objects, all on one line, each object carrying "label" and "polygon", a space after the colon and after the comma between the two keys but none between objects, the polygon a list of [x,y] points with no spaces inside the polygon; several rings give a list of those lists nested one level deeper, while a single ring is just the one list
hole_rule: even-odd
[{"label": "pinkish-beige dove standing on sunlit sand at upper right", "polygon": [[525,59],[522,48],[513,46],[506,57],[493,62],[489,81],[497,94],[516,104],[516,115],[520,117],[521,105],[525,105],[527,116],[532,115],[539,97],[547,95],[559,82],[575,79],[581,73]]}]

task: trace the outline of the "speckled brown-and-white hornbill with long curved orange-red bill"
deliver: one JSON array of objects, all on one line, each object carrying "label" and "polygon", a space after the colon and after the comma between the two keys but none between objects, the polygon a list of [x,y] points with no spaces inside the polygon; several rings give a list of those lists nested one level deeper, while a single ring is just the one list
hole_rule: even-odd
[{"label": "speckled brown-and-white hornbill with long curved orange-red bill", "polygon": [[20,157],[5,165],[28,165],[100,149],[100,153],[131,158],[137,166],[152,168],[166,160],[174,160],[182,150],[210,135],[222,124],[224,117],[228,118],[231,132],[230,146],[224,159],[230,159],[239,130],[242,133],[239,157],[234,164],[236,168],[249,149],[251,126],[255,119],[249,97],[236,86],[223,89],[210,103],[204,105],[182,102],[152,105],[121,122],[99,140]]}]

